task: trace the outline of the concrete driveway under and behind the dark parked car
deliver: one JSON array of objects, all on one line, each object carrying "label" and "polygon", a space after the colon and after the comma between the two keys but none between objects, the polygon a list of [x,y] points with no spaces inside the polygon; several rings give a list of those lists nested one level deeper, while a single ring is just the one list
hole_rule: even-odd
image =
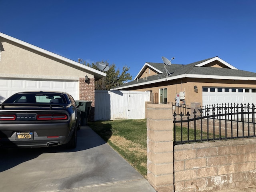
[{"label": "concrete driveway under and behind the dark parked car", "polygon": [[156,192],[88,126],[78,146],[0,151],[1,192]]}]

